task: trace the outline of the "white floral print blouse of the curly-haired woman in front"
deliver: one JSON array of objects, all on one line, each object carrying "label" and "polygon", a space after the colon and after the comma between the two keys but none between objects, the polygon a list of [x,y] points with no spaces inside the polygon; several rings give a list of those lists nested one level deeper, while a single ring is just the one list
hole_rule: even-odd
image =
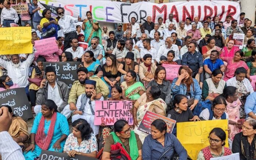
[{"label": "white floral print blouse of the curly-haired woman in front", "polygon": [[91,137],[88,140],[83,140],[79,145],[77,138],[71,133],[66,139],[63,151],[68,153],[71,150],[75,150],[82,153],[91,153],[97,151],[97,148],[97,141],[94,134],[91,134]]}]

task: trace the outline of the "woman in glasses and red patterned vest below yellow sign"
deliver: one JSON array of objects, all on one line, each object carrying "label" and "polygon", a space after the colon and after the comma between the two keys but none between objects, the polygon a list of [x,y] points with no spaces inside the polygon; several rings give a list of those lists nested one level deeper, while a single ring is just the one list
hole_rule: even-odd
[{"label": "woman in glasses and red patterned vest below yellow sign", "polygon": [[208,137],[210,146],[203,148],[198,153],[197,160],[210,160],[214,157],[228,156],[232,151],[224,147],[226,133],[221,128],[213,128]]}]

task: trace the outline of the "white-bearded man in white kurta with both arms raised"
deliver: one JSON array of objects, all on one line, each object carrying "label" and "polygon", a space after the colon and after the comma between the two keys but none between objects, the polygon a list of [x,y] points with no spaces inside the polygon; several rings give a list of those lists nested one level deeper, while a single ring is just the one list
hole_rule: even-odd
[{"label": "white-bearded man in white kurta with both arms raised", "polygon": [[[35,42],[32,41],[33,46]],[[29,66],[32,64],[33,59],[35,58],[36,50],[33,49],[33,53],[28,55],[26,61],[21,62],[18,54],[10,55],[11,61],[4,61],[0,58],[0,66],[7,70],[8,76],[13,80],[13,83],[18,84],[18,86],[24,87],[26,95],[29,97],[28,91],[28,72]]]}]

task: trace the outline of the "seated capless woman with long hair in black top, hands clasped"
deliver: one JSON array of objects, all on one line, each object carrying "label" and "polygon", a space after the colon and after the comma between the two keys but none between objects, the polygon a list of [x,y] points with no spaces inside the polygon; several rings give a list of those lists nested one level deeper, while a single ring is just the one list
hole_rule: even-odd
[{"label": "seated capless woman with long hair in black top, hands clasped", "polygon": [[111,97],[111,88],[119,84],[121,73],[118,71],[117,58],[113,54],[107,55],[106,64],[102,66],[103,77],[109,86],[109,97]]}]

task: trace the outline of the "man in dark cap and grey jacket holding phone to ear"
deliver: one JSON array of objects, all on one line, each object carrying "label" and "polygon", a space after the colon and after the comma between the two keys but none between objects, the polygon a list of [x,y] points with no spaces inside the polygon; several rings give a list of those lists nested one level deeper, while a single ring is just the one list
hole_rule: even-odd
[{"label": "man in dark cap and grey jacket holding phone to ear", "polygon": [[56,70],[53,66],[45,68],[46,78],[40,83],[38,92],[36,93],[36,105],[34,112],[41,112],[42,104],[47,100],[53,100],[58,106],[58,112],[62,112],[68,105],[69,90],[67,84],[56,80]]}]

